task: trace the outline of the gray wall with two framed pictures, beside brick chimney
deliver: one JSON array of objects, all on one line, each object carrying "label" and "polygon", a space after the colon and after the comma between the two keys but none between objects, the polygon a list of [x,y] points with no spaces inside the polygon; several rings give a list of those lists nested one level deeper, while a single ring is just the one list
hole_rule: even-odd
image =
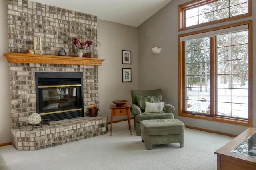
[{"label": "gray wall with two framed pictures, beside brick chimney", "polygon": [[[112,101],[128,100],[132,104],[130,90],[138,89],[137,28],[98,19],[98,41],[102,44],[97,47],[98,58],[106,59],[98,67],[99,113],[108,115],[109,122]],[[131,51],[132,64],[122,64],[122,50]],[[122,82],[122,68],[132,68],[132,82]],[[126,118],[116,116],[114,121]]]}]

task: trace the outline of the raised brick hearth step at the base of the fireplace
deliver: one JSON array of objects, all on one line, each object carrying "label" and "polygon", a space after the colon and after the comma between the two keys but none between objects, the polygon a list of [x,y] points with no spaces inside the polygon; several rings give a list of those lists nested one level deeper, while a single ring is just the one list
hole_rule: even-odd
[{"label": "raised brick hearth step at the base of the fireplace", "polygon": [[78,117],[52,121],[50,125],[12,128],[12,144],[17,150],[40,150],[107,132],[107,116]]}]

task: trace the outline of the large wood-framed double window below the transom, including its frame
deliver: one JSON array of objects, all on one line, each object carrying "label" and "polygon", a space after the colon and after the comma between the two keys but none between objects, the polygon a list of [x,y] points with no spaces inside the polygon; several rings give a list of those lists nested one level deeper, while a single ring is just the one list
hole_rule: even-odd
[{"label": "large wood-framed double window below the transom, including its frame", "polygon": [[179,35],[180,115],[250,121],[251,24]]}]

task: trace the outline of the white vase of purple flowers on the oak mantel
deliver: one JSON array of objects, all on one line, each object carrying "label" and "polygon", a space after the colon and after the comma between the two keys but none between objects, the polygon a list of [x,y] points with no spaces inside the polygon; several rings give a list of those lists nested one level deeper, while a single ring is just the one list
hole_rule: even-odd
[{"label": "white vase of purple flowers on the oak mantel", "polygon": [[96,40],[83,41],[82,39],[80,39],[78,37],[74,37],[73,38],[73,43],[74,43],[75,47],[77,48],[77,55],[78,55],[78,57],[82,57],[83,56],[82,50],[86,50],[87,47],[90,47],[93,42],[99,43]]}]

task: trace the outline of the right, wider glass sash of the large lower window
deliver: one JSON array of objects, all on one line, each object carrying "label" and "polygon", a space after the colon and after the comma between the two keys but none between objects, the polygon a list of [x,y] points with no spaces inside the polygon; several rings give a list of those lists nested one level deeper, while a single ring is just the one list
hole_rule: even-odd
[{"label": "right, wider glass sash of the large lower window", "polygon": [[248,119],[248,31],[216,38],[216,115]]}]

